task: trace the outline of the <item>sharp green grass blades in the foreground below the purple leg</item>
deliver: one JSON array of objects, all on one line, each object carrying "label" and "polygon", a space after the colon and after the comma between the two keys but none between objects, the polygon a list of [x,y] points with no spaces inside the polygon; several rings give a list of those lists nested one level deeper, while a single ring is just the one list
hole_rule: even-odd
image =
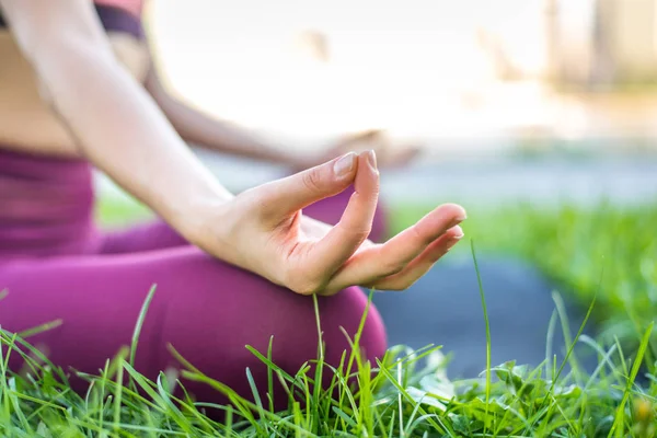
[{"label": "sharp green grass blades in the foreground below the purple leg", "polygon": [[[550,358],[545,367],[535,370],[507,362],[489,367],[482,379],[450,381],[437,347],[411,351],[397,346],[382,360],[369,364],[362,361],[358,342],[353,343],[353,349],[345,353],[343,360],[354,364],[353,367],[330,367],[323,361],[320,348],[318,359],[312,361],[315,371],[308,364],[292,376],[273,364],[267,351],[251,348],[269,367],[270,381],[279,379],[287,388],[288,408],[274,412],[263,402],[267,400],[266,389],[252,387],[253,401],[240,397],[187,364],[173,348],[184,365],[181,377],[204,382],[228,395],[231,406],[201,405],[187,396],[176,399],[171,389],[181,385],[181,380],[162,373],[157,381],[150,381],[139,374],[131,361],[135,351],[139,354],[139,327],[148,318],[147,307],[153,293],[157,293],[154,288],[136,322],[132,346],[108,361],[97,376],[84,376],[90,382],[85,394],[73,393],[64,372],[37,349],[14,334],[1,332],[4,360],[0,361],[0,434],[8,437],[652,437],[655,433],[657,378],[653,377],[646,388],[635,383],[652,326],[644,334],[633,364],[623,359],[618,345],[603,350],[591,344],[599,349],[600,366],[584,381],[581,376],[563,374],[563,365],[550,366]],[[318,339],[321,341],[319,319]],[[14,354],[26,359],[28,372],[18,374],[7,369],[7,360]],[[429,365],[418,368],[423,357],[429,359]],[[620,365],[611,365],[612,358]],[[250,377],[247,369],[245,373]],[[332,378],[331,385],[326,389],[313,385],[324,373]],[[496,377],[494,381],[492,373]],[[268,388],[273,388],[272,383]],[[206,416],[205,411],[210,407],[221,408],[226,419],[218,423]]]}]

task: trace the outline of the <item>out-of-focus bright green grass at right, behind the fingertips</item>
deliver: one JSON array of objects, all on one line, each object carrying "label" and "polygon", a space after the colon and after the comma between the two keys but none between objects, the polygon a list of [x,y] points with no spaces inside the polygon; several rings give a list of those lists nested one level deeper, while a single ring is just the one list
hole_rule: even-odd
[{"label": "out-of-focus bright green grass at right, behind the fingertips", "polygon": [[[394,228],[426,210],[397,206]],[[584,308],[597,296],[592,318],[604,341],[618,337],[635,350],[657,310],[656,224],[657,204],[622,209],[514,205],[470,209],[463,229],[483,251],[532,262]],[[650,339],[649,357],[657,357],[657,338]]]}]

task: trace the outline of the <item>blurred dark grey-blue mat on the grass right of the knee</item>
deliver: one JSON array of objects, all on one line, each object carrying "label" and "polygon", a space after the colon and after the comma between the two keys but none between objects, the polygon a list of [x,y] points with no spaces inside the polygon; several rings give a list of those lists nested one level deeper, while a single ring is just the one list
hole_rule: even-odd
[{"label": "blurred dark grey-blue mat on the grass right of the knee", "polygon": [[[535,367],[545,359],[548,326],[555,302],[552,291],[567,295],[535,267],[522,261],[480,256],[492,338],[492,365],[516,360]],[[389,344],[415,349],[442,345],[451,354],[448,374],[472,378],[486,367],[486,332],[476,272],[472,257],[451,256],[403,292],[377,292],[373,302],[383,316]],[[566,306],[572,336],[579,330],[586,309]],[[553,354],[562,360],[566,346],[557,320]],[[592,333],[590,325],[585,333]],[[585,369],[595,369],[589,348],[576,349]]]}]

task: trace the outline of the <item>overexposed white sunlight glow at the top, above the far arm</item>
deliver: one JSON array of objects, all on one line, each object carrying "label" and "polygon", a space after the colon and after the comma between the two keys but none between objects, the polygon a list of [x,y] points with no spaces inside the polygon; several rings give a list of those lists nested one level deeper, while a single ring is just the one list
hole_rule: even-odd
[{"label": "overexposed white sunlight glow at the top, above the far arm", "polygon": [[[473,0],[413,0],[404,8],[346,0],[153,3],[151,33],[174,91],[256,129],[308,138],[374,127],[477,137],[552,117],[537,79],[497,79],[503,43],[515,69],[540,77],[538,0],[506,0],[506,8]],[[299,48],[306,30],[327,37],[327,62]]]}]

